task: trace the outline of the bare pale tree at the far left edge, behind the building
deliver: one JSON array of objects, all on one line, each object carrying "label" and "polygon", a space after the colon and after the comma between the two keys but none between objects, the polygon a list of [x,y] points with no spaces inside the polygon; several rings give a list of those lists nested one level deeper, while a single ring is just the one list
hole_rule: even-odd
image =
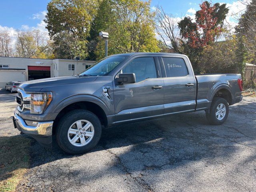
[{"label": "bare pale tree at the far left edge, behind the building", "polygon": [[[3,50],[4,47],[4,50]],[[13,56],[10,34],[7,31],[0,32],[0,56]]]}]

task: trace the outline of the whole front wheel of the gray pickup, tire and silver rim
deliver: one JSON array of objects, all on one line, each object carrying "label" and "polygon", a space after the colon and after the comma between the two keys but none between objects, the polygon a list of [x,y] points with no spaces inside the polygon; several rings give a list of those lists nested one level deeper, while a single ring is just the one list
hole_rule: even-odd
[{"label": "whole front wheel of the gray pickup, tire and silver rim", "polygon": [[56,130],[56,141],[65,152],[80,154],[96,146],[101,132],[98,117],[88,110],[78,109],[61,118]]}]

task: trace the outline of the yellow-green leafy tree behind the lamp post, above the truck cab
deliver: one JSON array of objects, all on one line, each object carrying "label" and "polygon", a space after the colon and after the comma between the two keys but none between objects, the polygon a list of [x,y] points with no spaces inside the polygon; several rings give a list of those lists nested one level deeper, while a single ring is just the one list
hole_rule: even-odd
[{"label": "yellow-green leafy tree behind the lamp post, above the truck cab", "polygon": [[[108,53],[158,52],[154,33],[154,13],[150,2],[141,0],[102,0],[94,20],[94,34],[109,33]],[[104,57],[104,40],[96,37],[96,58]]]}]

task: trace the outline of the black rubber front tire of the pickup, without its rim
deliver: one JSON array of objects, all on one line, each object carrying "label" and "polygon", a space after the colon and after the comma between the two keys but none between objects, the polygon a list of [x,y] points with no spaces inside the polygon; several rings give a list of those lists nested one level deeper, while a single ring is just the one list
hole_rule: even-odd
[{"label": "black rubber front tire of the pickup, without its rim", "polygon": [[[68,139],[70,126],[78,120],[88,120],[94,127],[92,140],[84,146],[74,146]],[[102,127],[98,117],[88,110],[77,109],[68,112],[58,123],[56,130],[56,141],[60,148],[69,154],[81,154],[90,151],[98,144],[102,133]]]}]

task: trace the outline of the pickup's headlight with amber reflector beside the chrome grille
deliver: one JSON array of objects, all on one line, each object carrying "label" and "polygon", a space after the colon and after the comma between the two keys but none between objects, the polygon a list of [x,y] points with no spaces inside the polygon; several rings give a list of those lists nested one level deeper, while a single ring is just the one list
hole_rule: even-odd
[{"label": "pickup's headlight with amber reflector beside the chrome grille", "polygon": [[42,114],[52,101],[52,92],[31,93],[30,113]]}]

